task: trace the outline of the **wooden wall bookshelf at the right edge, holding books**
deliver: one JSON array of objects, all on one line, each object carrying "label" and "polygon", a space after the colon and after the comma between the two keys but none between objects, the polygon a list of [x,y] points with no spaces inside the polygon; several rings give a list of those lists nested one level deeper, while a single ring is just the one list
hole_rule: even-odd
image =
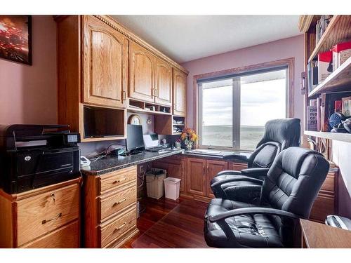
[{"label": "wooden wall bookshelf at the right edge, holding books", "polygon": [[[307,72],[307,64],[317,58],[319,53],[330,50],[338,43],[351,41],[351,15],[333,15],[329,25],[326,27],[318,43],[316,43],[316,25],[320,18],[321,15],[300,16],[298,27],[301,32],[305,33],[305,72]],[[348,58],[322,83],[319,83],[311,90],[310,93],[307,93],[307,90],[305,93],[305,119],[307,119],[306,109],[307,105],[310,104],[310,100],[318,99],[323,93],[351,92],[351,58]],[[321,116],[322,115],[320,115],[319,118],[321,118]],[[321,121],[321,119],[319,119],[319,121]],[[307,123],[307,121],[305,123]],[[351,142],[351,134],[311,131],[307,130],[307,124],[305,125],[304,134],[305,136],[315,137],[317,142],[319,138]]]}]

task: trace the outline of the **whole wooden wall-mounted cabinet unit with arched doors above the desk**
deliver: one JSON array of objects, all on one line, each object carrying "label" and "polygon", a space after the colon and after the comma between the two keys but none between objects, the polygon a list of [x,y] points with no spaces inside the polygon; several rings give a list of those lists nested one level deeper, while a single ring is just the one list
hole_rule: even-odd
[{"label": "whole wooden wall-mounted cabinet unit with arched doors above the desk", "polygon": [[[184,116],[187,74],[183,67],[108,15],[61,15],[55,20],[58,120],[81,133],[83,142],[126,138],[127,108],[130,112],[168,116],[174,108],[174,114]],[[131,100],[144,107],[133,107],[127,103]],[[113,128],[114,135],[87,135],[87,123],[93,122],[84,112],[87,106],[101,107],[105,111],[98,112],[112,114],[114,123],[102,130]],[[154,110],[148,111],[147,107]],[[172,134],[172,123],[164,132]]]}]

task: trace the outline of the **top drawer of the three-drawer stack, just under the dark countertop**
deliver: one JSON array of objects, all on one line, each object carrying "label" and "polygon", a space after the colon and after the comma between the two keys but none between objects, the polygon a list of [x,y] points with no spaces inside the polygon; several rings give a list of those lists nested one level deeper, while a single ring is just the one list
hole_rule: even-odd
[{"label": "top drawer of the three-drawer stack, just under the dark countertop", "polygon": [[100,176],[100,193],[105,194],[107,191],[113,191],[117,187],[136,180],[136,166],[117,170]]}]

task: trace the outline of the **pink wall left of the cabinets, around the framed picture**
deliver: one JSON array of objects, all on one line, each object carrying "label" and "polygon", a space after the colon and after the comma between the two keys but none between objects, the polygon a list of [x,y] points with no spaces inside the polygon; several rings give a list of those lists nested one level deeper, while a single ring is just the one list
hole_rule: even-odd
[{"label": "pink wall left of the cabinets, around the framed picture", "polygon": [[0,124],[57,123],[56,23],[32,16],[32,66],[0,59]]}]

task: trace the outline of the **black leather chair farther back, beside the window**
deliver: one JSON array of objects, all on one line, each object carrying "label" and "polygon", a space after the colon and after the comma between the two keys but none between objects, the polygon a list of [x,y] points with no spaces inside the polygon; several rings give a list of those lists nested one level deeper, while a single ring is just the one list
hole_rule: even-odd
[{"label": "black leather chair farther back, beside the window", "polygon": [[274,159],[284,149],[300,145],[300,119],[267,121],[262,140],[248,161],[248,169],[225,170],[211,180],[216,198],[251,201],[260,196],[260,188]]}]

